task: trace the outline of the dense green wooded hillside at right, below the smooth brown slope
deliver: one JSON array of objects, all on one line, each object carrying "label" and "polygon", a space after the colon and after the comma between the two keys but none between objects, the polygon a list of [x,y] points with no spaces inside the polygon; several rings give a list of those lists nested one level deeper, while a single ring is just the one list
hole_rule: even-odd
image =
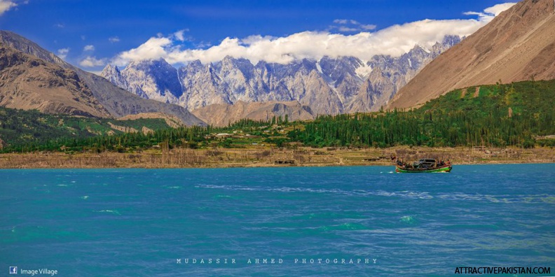
[{"label": "dense green wooded hillside at right, below the smooth brown slope", "polygon": [[[313,146],[535,146],[555,134],[555,82],[519,82],[450,92],[413,111],[325,115],[291,132]],[[552,141],[549,142],[551,145]],[[549,143],[547,143],[549,145]]]}]

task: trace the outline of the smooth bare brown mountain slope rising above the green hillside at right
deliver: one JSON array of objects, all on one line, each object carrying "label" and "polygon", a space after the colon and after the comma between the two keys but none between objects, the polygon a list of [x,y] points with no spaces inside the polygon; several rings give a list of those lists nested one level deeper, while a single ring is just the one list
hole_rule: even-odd
[{"label": "smooth bare brown mountain slope rising above the green hillside at right", "polygon": [[408,108],[474,85],[555,78],[553,0],[524,0],[428,64],[388,108]]}]

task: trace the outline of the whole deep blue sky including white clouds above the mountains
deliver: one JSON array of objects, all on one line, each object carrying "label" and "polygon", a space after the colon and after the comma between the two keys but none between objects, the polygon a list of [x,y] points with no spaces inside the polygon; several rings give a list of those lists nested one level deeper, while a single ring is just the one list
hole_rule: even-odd
[{"label": "whole deep blue sky including white clouds above the mountains", "polygon": [[225,55],[287,63],[352,52],[364,59],[399,55],[449,31],[471,34],[506,2],[0,0],[0,29],[89,71],[158,57],[172,64]]}]

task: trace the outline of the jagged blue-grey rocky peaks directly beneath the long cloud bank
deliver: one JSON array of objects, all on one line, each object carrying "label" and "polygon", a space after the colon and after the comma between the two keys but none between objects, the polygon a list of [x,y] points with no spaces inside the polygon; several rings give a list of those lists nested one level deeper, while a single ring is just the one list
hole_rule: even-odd
[{"label": "jagged blue-grey rocky peaks directly beneath the long cloud bank", "polygon": [[[376,55],[369,61],[323,57],[291,64],[252,64],[225,57],[220,62],[194,61],[176,69],[164,59],[143,60],[123,70],[107,65],[101,76],[140,97],[178,104],[189,111],[239,102],[283,102],[284,108],[298,115],[303,111],[311,115],[378,111],[423,66],[459,42],[458,36],[446,36],[431,49],[416,45],[400,57]],[[268,112],[274,115],[272,110],[269,105]]]}]

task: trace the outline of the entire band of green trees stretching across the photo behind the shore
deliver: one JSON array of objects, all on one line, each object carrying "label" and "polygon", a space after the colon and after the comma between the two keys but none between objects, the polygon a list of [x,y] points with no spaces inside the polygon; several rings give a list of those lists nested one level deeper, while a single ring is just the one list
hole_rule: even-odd
[{"label": "entire band of green trees stretching across the photo behind the shore", "polygon": [[[474,93],[478,92],[478,93]],[[414,145],[454,147],[485,145],[488,147],[535,145],[555,146],[554,139],[536,141],[537,136],[555,134],[555,80],[526,81],[512,84],[469,87],[466,93],[455,90],[411,111],[381,111],[350,115],[321,115],[313,121],[289,122],[288,118],[238,120],[227,127],[181,127],[156,129],[153,132],[102,136],[48,136],[43,140],[11,143],[3,152],[36,150],[118,151],[141,150],[163,143],[168,148],[214,147],[214,137],[221,132],[242,130],[266,137],[275,143],[276,132],[261,132],[271,126],[287,127],[284,142],[301,142],[314,147],[379,147]],[[6,109],[9,110],[9,109]],[[12,113],[12,111],[8,111]],[[38,115],[37,115],[38,114]],[[4,111],[4,115],[6,112]],[[26,113],[44,118],[38,112]],[[34,123],[29,118],[25,125]],[[6,129],[12,126],[13,129]],[[0,118],[0,134],[17,134],[18,126]],[[6,133],[8,132],[8,133]],[[11,132],[11,133],[10,133]],[[1,137],[1,136],[0,136]],[[227,144],[231,141],[226,140]],[[228,145],[229,146],[229,145]]]}]

